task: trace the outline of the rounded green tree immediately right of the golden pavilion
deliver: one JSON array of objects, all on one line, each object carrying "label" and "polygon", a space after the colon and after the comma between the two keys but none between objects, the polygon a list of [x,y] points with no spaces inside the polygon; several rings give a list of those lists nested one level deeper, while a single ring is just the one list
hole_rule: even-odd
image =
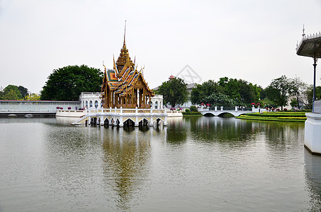
[{"label": "rounded green tree immediately right of the golden pavilion", "polygon": [[170,103],[171,107],[177,104],[184,104],[188,99],[187,84],[181,78],[172,78],[162,83],[158,88],[158,93],[163,95],[164,103]]}]

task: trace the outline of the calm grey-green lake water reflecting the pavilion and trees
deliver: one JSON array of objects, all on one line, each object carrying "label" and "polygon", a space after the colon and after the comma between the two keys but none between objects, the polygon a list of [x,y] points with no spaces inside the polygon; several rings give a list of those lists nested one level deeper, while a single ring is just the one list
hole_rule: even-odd
[{"label": "calm grey-green lake water reflecting the pavilion and trees", "polygon": [[0,211],[320,211],[321,157],[302,123],[71,121],[0,119]]}]

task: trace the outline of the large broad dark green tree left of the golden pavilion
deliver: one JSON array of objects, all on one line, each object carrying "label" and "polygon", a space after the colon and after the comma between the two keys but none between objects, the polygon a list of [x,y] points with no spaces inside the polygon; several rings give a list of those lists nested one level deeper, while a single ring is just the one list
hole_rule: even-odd
[{"label": "large broad dark green tree left of the golden pavilion", "polygon": [[86,65],[55,69],[43,86],[41,100],[79,99],[81,92],[100,92],[103,72]]}]

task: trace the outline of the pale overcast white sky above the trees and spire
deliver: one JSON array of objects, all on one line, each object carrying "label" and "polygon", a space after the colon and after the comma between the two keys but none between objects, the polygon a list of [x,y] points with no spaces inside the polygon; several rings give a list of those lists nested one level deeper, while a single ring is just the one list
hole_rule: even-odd
[{"label": "pale overcast white sky above the trees and spire", "polygon": [[186,65],[202,81],[227,76],[265,88],[284,74],[312,84],[313,61],[295,47],[303,23],[307,34],[321,30],[320,0],[0,0],[0,86],[39,93],[63,66],[112,69],[125,20],[130,57],[145,65],[151,88]]}]

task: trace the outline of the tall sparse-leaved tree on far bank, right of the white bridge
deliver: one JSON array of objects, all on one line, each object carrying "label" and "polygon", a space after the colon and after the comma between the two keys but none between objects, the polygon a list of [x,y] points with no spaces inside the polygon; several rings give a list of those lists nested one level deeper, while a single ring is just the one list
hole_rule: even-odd
[{"label": "tall sparse-leaved tree on far bank, right of the white bridge", "polygon": [[285,75],[282,75],[271,81],[270,85],[266,88],[266,96],[274,102],[276,107],[281,106],[281,110],[283,110],[283,106],[286,106],[288,102],[288,93],[290,90],[291,84],[289,79]]}]

